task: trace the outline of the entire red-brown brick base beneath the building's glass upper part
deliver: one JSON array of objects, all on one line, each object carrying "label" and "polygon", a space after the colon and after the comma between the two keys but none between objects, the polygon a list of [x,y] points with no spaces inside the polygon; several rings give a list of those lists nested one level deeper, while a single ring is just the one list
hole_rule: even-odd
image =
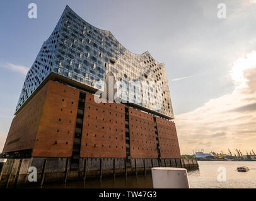
[{"label": "entire red-brown brick base beneath the building's glass upper part", "polygon": [[6,158],[180,158],[175,123],[49,80],[13,118]]}]

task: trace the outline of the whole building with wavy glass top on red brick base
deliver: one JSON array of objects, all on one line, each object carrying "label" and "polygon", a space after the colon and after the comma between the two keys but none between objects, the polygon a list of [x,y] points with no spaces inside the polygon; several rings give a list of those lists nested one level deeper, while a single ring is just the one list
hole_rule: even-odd
[{"label": "whole building with wavy glass top on red brick base", "polygon": [[[125,101],[95,102],[109,76]],[[173,119],[164,63],[130,52],[66,6],[26,75],[3,154],[84,175],[179,166]]]}]

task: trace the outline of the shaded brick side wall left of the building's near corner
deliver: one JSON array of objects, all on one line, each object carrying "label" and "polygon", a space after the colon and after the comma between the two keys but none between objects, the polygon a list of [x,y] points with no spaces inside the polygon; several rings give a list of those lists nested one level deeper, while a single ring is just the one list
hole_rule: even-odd
[{"label": "shaded brick side wall left of the building's near corner", "polygon": [[47,87],[48,84],[13,118],[6,143],[4,144],[3,153],[33,148]]}]

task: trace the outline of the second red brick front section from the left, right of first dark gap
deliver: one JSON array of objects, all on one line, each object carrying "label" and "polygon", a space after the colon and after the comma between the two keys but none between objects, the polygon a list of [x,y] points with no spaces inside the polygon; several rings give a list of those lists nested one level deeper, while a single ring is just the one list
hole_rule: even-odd
[{"label": "second red brick front section from the left, right of first dark gap", "polygon": [[125,109],[116,103],[96,104],[86,93],[81,157],[125,158]]}]

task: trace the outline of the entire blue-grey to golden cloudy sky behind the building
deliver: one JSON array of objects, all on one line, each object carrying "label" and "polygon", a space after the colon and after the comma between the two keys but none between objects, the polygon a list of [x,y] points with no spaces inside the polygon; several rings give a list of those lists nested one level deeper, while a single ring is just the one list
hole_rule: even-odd
[{"label": "entire blue-grey to golden cloudy sky behind the building", "polygon": [[[30,3],[37,19],[28,18]],[[226,18],[217,16],[219,3]],[[256,151],[255,0],[3,0],[0,152],[26,71],[66,5],[131,52],[165,63],[182,154]]]}]

